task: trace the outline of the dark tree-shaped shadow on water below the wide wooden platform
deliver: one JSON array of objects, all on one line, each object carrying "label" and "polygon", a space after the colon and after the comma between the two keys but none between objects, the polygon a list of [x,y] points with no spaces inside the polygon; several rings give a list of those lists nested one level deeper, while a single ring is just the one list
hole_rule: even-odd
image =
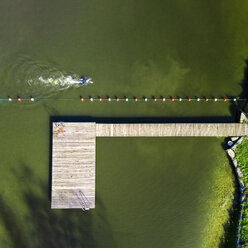
[{"label": "dark tree-shaped shadow on water below the wide wooden platform", "polygon": [[[21,171],[15,171],[17,179],[25,178],[25,184],[20,187],[21,204],[27,208],[27,213],[20,219],[16,218],[17,211],[10,207],[0,197],[0,220],[12,241],[14,248],[95,248],[98,247],[93,232],[92,216],[96,210],[83,212],[78,210],[52,210],[47,197],[47,184],[42,183],[25,165]],[[112,243],[111,230],[106,220],[105,207],[97,196],[97,204],[101,209],[101,230],[107,238],[110,247]],[[18,203],[19,204],[19,203]],[[20,214],[18,213],[18,217]]]}]

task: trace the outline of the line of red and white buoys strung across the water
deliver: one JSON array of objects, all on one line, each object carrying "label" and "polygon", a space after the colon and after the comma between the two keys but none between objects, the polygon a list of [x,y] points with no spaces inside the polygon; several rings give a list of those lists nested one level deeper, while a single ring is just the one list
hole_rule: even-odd
[{"label": "line of red and white buoys strung across the water", "polygon": [[119,102],[119,101],[124,101],[124,102],[129,102],[129,101],[134,101],[134,102],[141,102],[141,101],[144,101],[144,102],[148,102],[148,101],[153,101],[153,102],[157,102],[157,101],[162,101],[162,102],[165,102],[165,101],[171,101],[171,102],[174,102],[174,101],[179,101],[179,102],[182,102],[182,101],[187,101],[187,102],[191,102],[191,101],[197,101],[197,102],[208,102],[208,101],[214,101],[214,102],[221,102],[221,101],[224,101],[224,102],[236,102],[236,101],[248,101],[248,99],[237,99],[237,98],[137,98],[137,97],[134,97],[134,98],[128,98],[128,97],[124,97],[124,98],[119,98],[119,97],[115,97],[115,98],[101,98],[101,97],[98,97],[98,98],[93,98],[93,97],[90,97],[90,98],[83,98],[81,97],[80,99],[54,99],[54,98],[51,98],[51,99],[34,99],[33,97],[31,98],[4,98],[4,99],[0,99],[0,101],[18,101],[18,102],[21,102],[21,101],[31,101],[31,102],[34,102],[35,100],[39,100],[39,101],[59,101],[59,100],[63,100],[63,101],[66,101],[66,100],[81,100],[82,102],[83,101],[99,101],[99,102],[102,102],[102,101],[108,101],[108,102],[111,102],[111,101],[116,101],[116,102]]}]

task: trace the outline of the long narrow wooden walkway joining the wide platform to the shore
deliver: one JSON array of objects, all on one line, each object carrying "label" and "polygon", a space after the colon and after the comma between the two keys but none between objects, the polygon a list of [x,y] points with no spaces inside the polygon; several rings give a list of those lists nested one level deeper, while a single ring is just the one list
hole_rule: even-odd
[{"label": "long narrow wooden walkway joining the wide platform to the shore", "polygon": [[236,123],[96,124],[99,137],[226,137],[244,136],[247,132],[247,125]]}]

